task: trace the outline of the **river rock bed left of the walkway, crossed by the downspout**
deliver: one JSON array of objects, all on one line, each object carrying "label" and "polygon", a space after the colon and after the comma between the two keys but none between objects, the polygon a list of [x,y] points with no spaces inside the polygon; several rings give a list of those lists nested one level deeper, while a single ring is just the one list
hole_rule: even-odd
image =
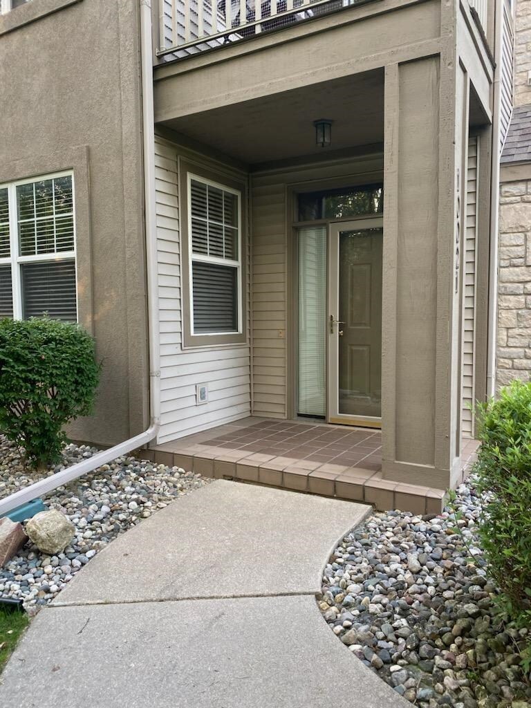
[{"label": "river rock bed left of the walkway, crossed by the downspout", "polygon": [[[85,445],[68,445],[62,464],[33,473],[23,464],[16,447],[0,438],[0,498],[95,452],[98,450]],[[178,467],[119,457],[60,487],[43,501],[47,508],[59,510],[72,521],[72,543],[55,556],[39,552],[31,542],[25,544],[0,569],[0,597],[22,598],[25,609],[34,614],[115,537],[208,481]]]}]

